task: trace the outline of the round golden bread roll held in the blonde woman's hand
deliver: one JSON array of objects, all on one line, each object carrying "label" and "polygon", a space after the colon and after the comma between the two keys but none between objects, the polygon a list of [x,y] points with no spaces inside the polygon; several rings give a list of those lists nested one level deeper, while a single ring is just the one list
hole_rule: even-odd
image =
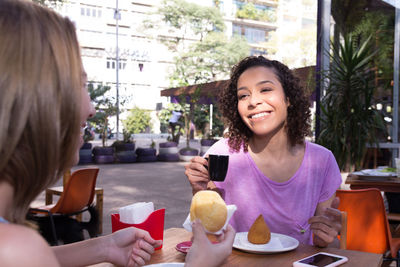
[{"label": "round golden bread roll held in the blonde woman's hand", "polygon": [[190,221],[200,219],[209,232],[217,232],[224,226],[228,209],[225,201],[215,191],[203,190],[197,192],[190,205]]}]

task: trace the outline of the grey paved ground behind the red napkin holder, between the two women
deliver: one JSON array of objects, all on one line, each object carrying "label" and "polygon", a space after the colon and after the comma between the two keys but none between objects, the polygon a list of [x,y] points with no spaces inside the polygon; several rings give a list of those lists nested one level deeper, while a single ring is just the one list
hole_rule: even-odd
[{"label": "grey paved ground behind the red napkin holder, between the two women", "polygon": [[[189,214],[192,190],[184,174],[185,162],[148,162],[129,164],[79,165],[100,168],[97,187],[104,189],[103,235],[111,233],[111,214],[118,208],[136,202],[154,203],[165,208],[165,229],[181,227]],[[62,185],[62,179],[56,184]],[[44,204],[42,193],[34,205]],[[57,201],[54,197],[54,201]]]}]

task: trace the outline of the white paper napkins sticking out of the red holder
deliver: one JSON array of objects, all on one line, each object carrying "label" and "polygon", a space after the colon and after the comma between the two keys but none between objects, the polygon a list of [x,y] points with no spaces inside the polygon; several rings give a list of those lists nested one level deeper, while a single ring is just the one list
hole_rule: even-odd
[{"label": "white paper napkins sticking out of the red holder", "polygon": [[120,208],[119,219],[123,223],[138,224],[144,222],[153,211],[153,202],[138,202]]}]

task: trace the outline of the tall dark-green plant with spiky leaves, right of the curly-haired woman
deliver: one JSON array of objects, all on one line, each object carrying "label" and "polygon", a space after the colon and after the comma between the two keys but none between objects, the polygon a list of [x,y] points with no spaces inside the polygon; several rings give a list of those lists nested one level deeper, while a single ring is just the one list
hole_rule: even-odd
[{"label": "tall dark-green plant with spiky leaves, right of the curly-haired woman", "polygon": [[356,46],[351,35],[339,49],[333,47],[329,79],[321,103],[321,133],[317,142],[330,149],[342,170],[359,169],[367,144],[377,144],[385,131],[382,116],[373,106],[374,75],[368,38]]}]

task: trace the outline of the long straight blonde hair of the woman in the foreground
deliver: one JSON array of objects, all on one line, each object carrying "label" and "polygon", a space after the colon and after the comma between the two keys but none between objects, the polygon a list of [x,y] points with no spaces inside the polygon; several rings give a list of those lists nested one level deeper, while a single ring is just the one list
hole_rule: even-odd
[{"label": "long straight blonde hair of the woman in the foreground", "polygon": [[0,183],[14,188],[8,220],[74,164],[82,62],[73,23],[28,1],[0,1]]}]

